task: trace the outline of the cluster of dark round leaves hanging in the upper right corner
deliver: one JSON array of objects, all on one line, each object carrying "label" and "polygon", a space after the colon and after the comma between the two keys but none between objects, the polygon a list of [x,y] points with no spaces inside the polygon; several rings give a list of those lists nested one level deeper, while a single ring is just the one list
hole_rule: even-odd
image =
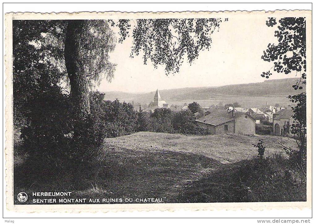
[{"label": "cluster of dark round leaves hanging in the upper right corner", "polygon": [[[273,27],[277,25],[276,18],[268,18],[266,25]],[[302,89],[300,84],[306,84],[306,25],[305,18],[286,17],[278,20],[278,30],[275,31],[278,43],[269,43],[261,56],[261,59],[273,62],[273,66],[262,77],[269,78],[274,72],[289,74],[296,72],[300,80],[293,86],[295,89]],[[304,80],[302,80],[304,79]]]}]

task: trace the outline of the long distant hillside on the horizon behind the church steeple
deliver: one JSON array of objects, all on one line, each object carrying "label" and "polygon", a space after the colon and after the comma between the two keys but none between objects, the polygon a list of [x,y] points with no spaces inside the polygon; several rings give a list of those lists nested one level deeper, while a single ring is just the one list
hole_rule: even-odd
[{"label": "long distant hillside on the horizon behind the church steeple", "polygon": [[[294,90],[296,78],[265,80],[261,83],[236,84],[219,87],[194,87],[180,89],[159,90],[161,98],[165,101],[189,101],[189,100],[211,100],[218,97],[286,97],[301,93],[301,90]],[[304,89],[302,89],[304,90]],[[149,103],[153,100],[156,89],[149,93],[125,93],[119,91],[106,92],[106,100],[119,99],[121,101],[135,101]]]}]

